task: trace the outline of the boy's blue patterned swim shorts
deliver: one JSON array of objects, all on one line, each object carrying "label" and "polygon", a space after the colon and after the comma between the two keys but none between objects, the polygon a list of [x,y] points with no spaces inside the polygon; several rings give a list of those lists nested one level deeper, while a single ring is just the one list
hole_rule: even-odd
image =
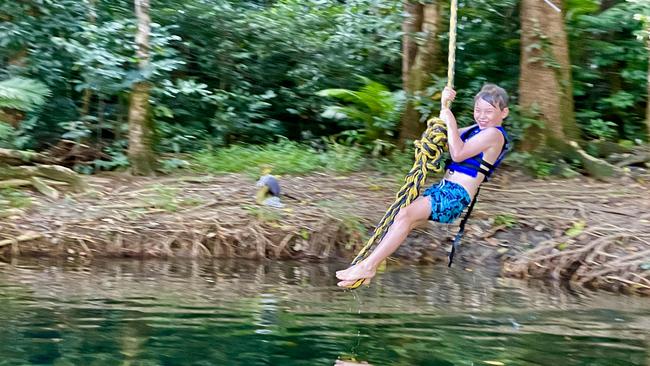
[{"label": "boy's blue patterned swim shorts", "polygon": [[463,186],[444,179],[427,188],[422,196],[431,196],[431,220],[443,224],[454,222],[472,201]]}]

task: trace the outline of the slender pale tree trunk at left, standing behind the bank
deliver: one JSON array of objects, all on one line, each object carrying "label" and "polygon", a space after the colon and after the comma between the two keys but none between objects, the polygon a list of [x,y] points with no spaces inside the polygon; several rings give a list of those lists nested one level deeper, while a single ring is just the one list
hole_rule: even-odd
[{"label": "slender pale tree trunk at left, standing behind the bank", "polygon": [[[135,42],[138,47],[138,66],[144,71],[149,65],[149,0],[135,0],[138,30]],[[155,157],[152,149],[153,126],[149,119],[149,82],[133,84],[129,107],[129,162],[135,175],[151,175]]]}]

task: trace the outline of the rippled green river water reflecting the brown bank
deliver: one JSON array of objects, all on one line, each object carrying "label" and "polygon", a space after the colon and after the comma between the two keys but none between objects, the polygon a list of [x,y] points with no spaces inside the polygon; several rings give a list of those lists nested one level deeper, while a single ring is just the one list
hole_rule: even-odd
[{"label": "rippled green river water reflecting the brown bank", "polygon": [[0,365],[650,365],[650,299],[393,267],[0,263]]}]

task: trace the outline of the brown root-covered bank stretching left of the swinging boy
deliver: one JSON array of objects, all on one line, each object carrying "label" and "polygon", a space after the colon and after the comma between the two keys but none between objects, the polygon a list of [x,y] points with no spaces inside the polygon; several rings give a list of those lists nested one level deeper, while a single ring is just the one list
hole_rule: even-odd
[{"label": "brown root-covered bank stretching left of the swinging boy", "polygon": [[[312,197],[292,193],[300,197],[296,207],[258,206],[254,182],[240,179],[247,178],[212,178],[205,190],[206,182],[183,179],[143,178],[146,188],[124,188],[97,178],[74,201],[0,223],[0,246],[18,241],[23,255],[321,260],[352,253],[370,226],[316,186]],[[23,235],[25,226],[40,228],[38,236]]]}]

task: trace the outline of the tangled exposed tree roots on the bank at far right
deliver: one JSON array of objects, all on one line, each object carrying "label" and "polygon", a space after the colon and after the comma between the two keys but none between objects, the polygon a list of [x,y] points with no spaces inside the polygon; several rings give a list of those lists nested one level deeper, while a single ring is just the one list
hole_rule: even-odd
[{"label": "tangled exposed tree roots on the bank at far right", "polygon": [[[530,189],[528,200],[534,201],[537,197],[545,204],[568,201],[566,196],[550,199],[545,196],[548,192]],[[537,212],[536,217],[546,226],[557,227],[558,223],[552,224],[552,221],[564,220],[563,229],[533,248],[507,258],[503,273],[520,278],[569,280],[587,287],[650,295],[647,186],[636,183],[626,186],[619,182],[603,192],[586,185],[576,193],[580,199],[571,199],[573,207],[556,206],[562,218]]]}]

